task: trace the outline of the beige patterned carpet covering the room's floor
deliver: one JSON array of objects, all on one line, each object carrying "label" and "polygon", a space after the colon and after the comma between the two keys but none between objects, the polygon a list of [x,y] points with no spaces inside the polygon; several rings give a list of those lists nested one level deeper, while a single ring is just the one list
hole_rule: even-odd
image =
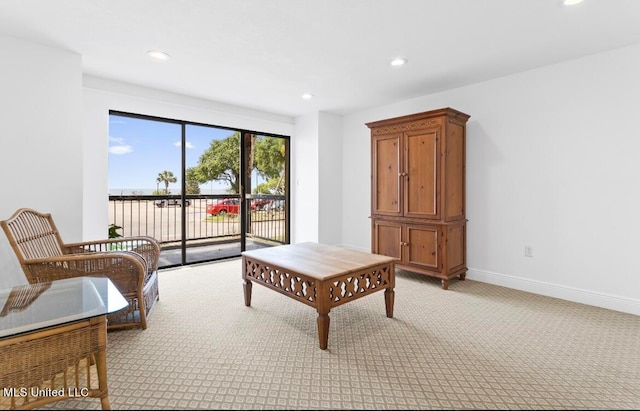
[{"label": "beige patterned carpet covering the room's floor", "polygon": [[[108,334],[113,409],[640,409],[640,317],[497,287],[396,277],[316,312],[241,260],[161,271],[145,331]],[[99,409],[74,399],[49,409]]]}]

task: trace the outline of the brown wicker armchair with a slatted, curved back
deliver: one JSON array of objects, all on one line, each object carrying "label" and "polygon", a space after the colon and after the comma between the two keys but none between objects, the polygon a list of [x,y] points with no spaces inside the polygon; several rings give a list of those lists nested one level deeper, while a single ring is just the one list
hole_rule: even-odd
[{"label": "brown wicker armchair with a slatted, curved back", "polygon": [[[29,283],[79,276],[106,276],[129,301],[107,316],[109,329],[147,328],[159,298],[160,247],[152,237],[119,237],[65,244],[51,214],[21,208],[0,221]],[[114,250],[115,249],[115,250]]]}]

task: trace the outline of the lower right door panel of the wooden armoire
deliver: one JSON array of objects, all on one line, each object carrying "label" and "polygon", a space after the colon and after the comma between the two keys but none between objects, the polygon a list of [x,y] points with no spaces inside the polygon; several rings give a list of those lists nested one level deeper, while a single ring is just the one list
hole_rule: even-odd
[{"label": "lower right door panel of the wooden armoire", "polygon": [[439,233],[440,230],[437,227],[407,226],[405,236],[407,263],[438,270],[440,268]]}]

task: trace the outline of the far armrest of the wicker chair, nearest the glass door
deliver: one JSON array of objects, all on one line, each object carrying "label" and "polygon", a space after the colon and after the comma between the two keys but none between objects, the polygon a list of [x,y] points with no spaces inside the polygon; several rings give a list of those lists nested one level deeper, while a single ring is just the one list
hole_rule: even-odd
[{"label": "far armrest of the wicker chair, nearest the glass door", "polygon": [[147,272],[158,269],[160,259],[160,243],[149,236],[132,236],[110,238],[105,240],[67,243],[63,246],[65,254],[133,251],[142,255],[147,261]]}]

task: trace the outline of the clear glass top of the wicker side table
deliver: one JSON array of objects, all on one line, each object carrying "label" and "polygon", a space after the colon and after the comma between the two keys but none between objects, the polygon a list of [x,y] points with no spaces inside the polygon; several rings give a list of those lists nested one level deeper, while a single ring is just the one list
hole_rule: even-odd
[{"label": "clear glass top of the wicker side table", "polygon": [[0,289],[0,338],[110,314],[128,305],[106,277]]}]

